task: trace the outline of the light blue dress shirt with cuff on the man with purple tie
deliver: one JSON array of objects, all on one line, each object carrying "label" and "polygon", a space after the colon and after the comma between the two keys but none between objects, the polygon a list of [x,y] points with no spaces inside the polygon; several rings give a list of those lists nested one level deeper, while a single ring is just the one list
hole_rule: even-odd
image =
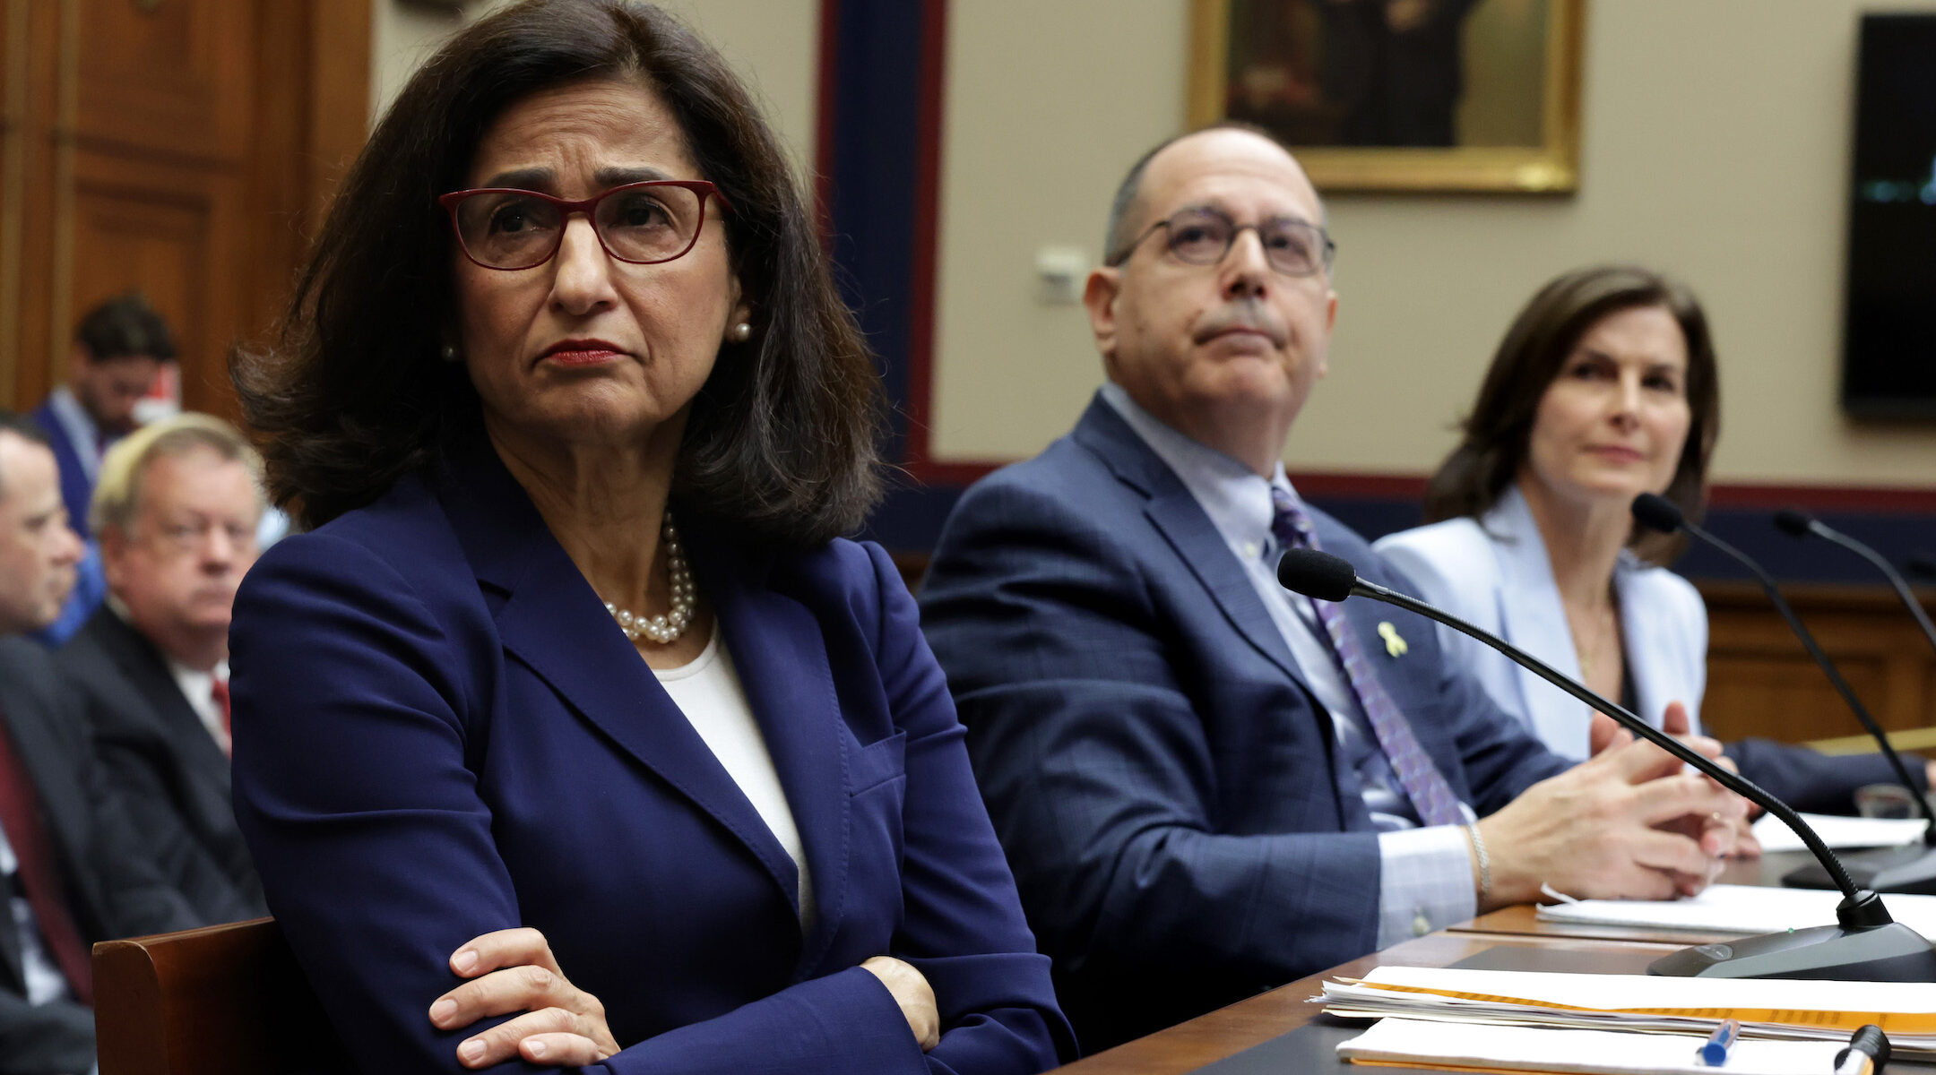
[{"label": "light blue dress shirt with cuff on the man with purple tie", "polygon": [[[1477,911],[1471,886],[1471,851],[1458,826],[1419,828],[1419,814],[1400,795],[1398,775],[1371,735],[1344,669],[1324,642],[1311,599],[1278,586],[1278,553],[1270,534],[1270,487],[1291,493],[1284,464],[1266,481],[1231,456],[1198,445],[1142,410],[1121,385],[1105,383],[1102,398],[1123,416],[1150,450],[1175,472],[1196,505],[1210,516],[1245,576],[1270,611],[1272,623],[1305,673],[1305,683],[1332,717],[1340,758],[1365,789],[1365,808],[1378,828],[1378,947],[1464,922]],[[1303,501],[1297,501],[1299,507]],[[1462,804],[1471,820],[1469,804]]]}]

